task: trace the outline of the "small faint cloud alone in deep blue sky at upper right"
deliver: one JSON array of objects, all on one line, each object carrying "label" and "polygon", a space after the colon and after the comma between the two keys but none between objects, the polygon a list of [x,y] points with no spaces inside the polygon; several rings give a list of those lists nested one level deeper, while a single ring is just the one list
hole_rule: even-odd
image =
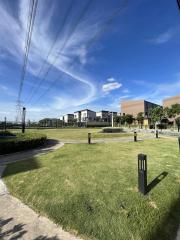
[{"label": "small faint cloud alone in deep blue sky at upper right", "polygon": [[172,29],[157,35],[156,37],[150,39],[150,42],[153,44],[163,44],[170,41],[174,37],[175,32]]}]

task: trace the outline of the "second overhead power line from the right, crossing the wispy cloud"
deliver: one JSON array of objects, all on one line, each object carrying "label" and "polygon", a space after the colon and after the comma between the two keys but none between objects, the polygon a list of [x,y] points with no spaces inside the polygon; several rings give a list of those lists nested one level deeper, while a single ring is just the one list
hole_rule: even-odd
[{"label": "second overhead power line from the right, crossing the wispy cloud", "polygon": [[85,7],[83,8],[83,11],[81,12],[81,14],[79,15],[77,21],[75,22],[73,28],[71,29],[71,33],[69,34],[69,36],[67,37],[67,39],[65,40],[65,42],[63,43],[62,47],[60,48],[60,50],[58,51],[56,57],[54,58],[53,62],[49,65],[49,68],[47,69],[47,71],[45,72],[44,77],[41,79],[41,81],[39,82],[36,90],[34,91],[31,99],[33,98],[33,96],[37,93],[37,91],[39,90],[39,88],[41,87],[42,83],[45,81],[46,77],[48,76],[50,70],[52,69],[52,67],[54,66],[54,64],[56,63],[56,61],[58,60],[59,55],[61,54],[62,50],[64,49],[64,47],[66,46],[66,44],[68,43],[69,39],[71,38],[71,36],[73,35],[73,33],[76,30],[76,27],[78,26],[79,22],[81,21],[81,19],[84,17],[85,13],[87,12],[88,8],[90,7],[90,4],[92,3],[93,0],[89,0]]}]

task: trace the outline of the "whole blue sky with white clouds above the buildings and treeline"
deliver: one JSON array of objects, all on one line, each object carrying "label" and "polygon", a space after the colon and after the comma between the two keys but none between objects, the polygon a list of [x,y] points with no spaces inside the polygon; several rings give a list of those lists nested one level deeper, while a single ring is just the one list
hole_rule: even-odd
[{"label": "whole blue sky with white clouds above the buildings and treeline", "polygon": [[[28,6],[0,1],[0,120],[16,115]],[[21,95],[27,119],[119,112],[125,99],[161,104],[180,93],[179,51],[175,0],[39,0]]]}]

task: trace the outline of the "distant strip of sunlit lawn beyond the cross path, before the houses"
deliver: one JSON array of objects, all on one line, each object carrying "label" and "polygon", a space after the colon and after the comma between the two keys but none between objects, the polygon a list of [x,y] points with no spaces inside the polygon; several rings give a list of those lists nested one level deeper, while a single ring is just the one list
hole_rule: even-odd
[{"label": "distant strip of sunlit lawn beyond the cross path, before the houses", "polygon": [[26,131],[44,133],[48,138],[60,140],[84,140],[87,139],[88,133],[92,133],[92,138],[95,139],[132,136],[132,133],[101,133],[101,128],[27,129]]}]

